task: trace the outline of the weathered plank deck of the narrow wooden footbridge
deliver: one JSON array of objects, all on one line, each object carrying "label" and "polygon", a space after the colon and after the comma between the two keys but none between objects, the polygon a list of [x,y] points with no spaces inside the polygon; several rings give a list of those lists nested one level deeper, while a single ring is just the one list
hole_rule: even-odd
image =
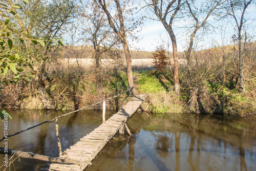
[{"label": "weathered plank deck of the narrow wooden footbridge", "polygon": [[120,129],[121,125],[131,117],[147,97],[146,94],[134,96],[120,111],[102,123],[90,134],[82,137],[80,141],[63,152],[60,158],[69,158],[80,164],[51,163],[41,170],[83,170],[97,156],[101,149]]}]

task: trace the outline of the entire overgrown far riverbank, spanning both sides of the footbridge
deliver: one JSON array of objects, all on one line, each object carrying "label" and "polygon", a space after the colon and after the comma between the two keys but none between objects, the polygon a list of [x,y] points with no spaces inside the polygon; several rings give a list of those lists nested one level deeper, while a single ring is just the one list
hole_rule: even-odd
[{"label": "entire overgrown far riverbank, spanning both sides of the footbridge", "polygon": [[[66,69],[65,69],[66,68]],[[140,66],[140,69],[143,67]],[[147,113],[168,117],[169,113],[204,113],[225,117],[256,116],[255,84],[247,83],[246,94],[223,87],[214,80],[204,80],[197,87],[188,87],[185,72],[180,71],[181,95],[175,96],[173,75],[170,70],[134,70],[135,93],[147,93],[143,104]],[[55,110],[75,110],[97,102],[99,90],[93,68],[82,66],[58,67],[45,78]],[[113,65],[101,75],[101,98],[115,96],[127,90],[124,67]],[[127,94],[107,102],[107,109],[119,109],[127,101]],[[20,81],[2,90],[2,108],[45,109],[34,82]],[[95,106],[94,109],[100,109]]]}]

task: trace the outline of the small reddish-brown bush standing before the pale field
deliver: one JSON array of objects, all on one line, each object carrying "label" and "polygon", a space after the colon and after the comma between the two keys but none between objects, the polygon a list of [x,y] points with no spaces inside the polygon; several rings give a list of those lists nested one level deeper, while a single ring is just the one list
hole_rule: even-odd
[{"label": "small reddish-brown bush standing before the pale field", "polygon": [[165,55],[166,50],[163,46],[157,47],[153,53],[153,63],[158,70],[163,70],[168,65],[168,57]]}]

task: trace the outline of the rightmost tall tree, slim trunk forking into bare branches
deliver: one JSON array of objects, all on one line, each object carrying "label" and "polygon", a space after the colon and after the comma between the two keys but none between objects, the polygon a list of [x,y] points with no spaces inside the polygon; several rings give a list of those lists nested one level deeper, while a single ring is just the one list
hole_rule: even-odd
[{"label": "rightmost tall tree, slim trunk forking into bare branches", "polygon": [[[239,91],[245,93],[244,87],[244,54],[242,49],[242,29],[248,18],[245,18],[245,13],[248,7],[252,4],[253,0],[228,0],[224,6],[226,13],[231,16],[237,28],[237,39],[239,46]],[[246,36],[245,36],[246,37]]]}]

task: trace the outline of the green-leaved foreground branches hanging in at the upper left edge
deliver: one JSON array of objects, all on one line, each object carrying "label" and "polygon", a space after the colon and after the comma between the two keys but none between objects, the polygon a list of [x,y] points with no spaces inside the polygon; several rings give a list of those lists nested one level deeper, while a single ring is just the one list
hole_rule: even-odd
[{"label": "green-leaved foreground branches hanging in at the upper left edge", "polygon": [[[23,0],[25,4],[28,4],[27,0]],[[41,45],[45,47],[51,44],[63,45],[62,41],[56,38],[46,40],[45,38],[34,39],[29,35],[27,30],[23,30],[21,27],[17,27],[16,10],[22,9],[20,5],[12,3],[10,1],[2,1],[0,3],[0,89],[7,86],[8,83],[14,83],[19,80],[20,77],[24,81],[30,80],[34,77],[32,74],[25,74],[26,68],[29,70],[33,67],[29,62],[27,56],[24,53],[20,53],[20,49],[28,51],[28,45],[32,42],[34,45]]]}]

